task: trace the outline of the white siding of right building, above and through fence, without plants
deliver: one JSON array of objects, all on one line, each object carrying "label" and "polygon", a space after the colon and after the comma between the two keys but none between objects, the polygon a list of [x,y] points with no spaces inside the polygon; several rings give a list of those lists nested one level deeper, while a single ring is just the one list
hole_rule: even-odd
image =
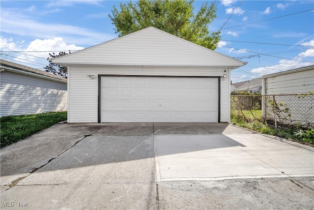
[{"label": "white siding of right building, above and through fence, without plants", "polygon": [[[263,94],[281,95],[281,94],[302,94],[314,92],[314,66],[305,67],[306,69],[292,69],[292,72],[280,72],[279,75],[265,75],[263,79]],[[297,95],[275,96],[276,102],[284,104],[284,108],[289,109],[290,119],[294,122],[303,122],[308,119],[314,122],[314,104],[309,97],[298,97]],[[271,98],[272,99],[272,98]],[[273,116],[272,108],[266,106],[267,101],[263,102],[263,116],[265,119],[271,119]],[[269,105],[268,105],[269,106]],[[281,121],[277,119],[277,121]]]}]

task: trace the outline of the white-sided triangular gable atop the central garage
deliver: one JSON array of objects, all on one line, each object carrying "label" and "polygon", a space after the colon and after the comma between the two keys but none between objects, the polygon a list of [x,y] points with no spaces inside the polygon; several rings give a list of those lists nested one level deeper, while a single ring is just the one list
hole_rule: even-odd
[{"label": "white-sided triangular gable atop the central garage", "polygon": [[234,69],[244,62],[154,27],[52,59],[63,66],[210,66]]}]

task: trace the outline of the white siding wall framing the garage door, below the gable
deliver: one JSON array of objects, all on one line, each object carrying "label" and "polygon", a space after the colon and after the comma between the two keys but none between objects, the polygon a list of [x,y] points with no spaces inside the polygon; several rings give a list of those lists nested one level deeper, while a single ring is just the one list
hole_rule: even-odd
[{"label": "white siding wall framing the garage door, below the gable", "polygon": [[[227,70],[227,72],[224,72]],[[79,67],[69,68],[71,77],[69,83],[68,122],[98,121],[98,79],[91,80],[87,75],[145,75],[145,76],[222,76],[220,121],[230,122],[229,74],[228,69],[212,68],[152,68],[152,67]],[[71,97],[70,97],[71,95]]]}]

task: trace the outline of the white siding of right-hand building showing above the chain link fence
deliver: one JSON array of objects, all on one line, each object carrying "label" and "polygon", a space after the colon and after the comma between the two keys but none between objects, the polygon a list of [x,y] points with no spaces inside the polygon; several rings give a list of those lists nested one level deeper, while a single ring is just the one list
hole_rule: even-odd
[{"label": "white siding of right-hand building showing above the chain link fence", "polygon": [[264,78],[264,94],[298,94],[314,92],[314,68]]}]

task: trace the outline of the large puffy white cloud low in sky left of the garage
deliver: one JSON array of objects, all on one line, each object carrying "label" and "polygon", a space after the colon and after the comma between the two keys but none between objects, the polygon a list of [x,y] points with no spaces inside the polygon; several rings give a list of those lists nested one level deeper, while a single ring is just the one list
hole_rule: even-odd
[{"label": "large puffy white cloud low in sky left of the garage", "polygon": [[[61,37],[56,37],[52,39],[35,39],[31,41],[27,46],[23,45],[25,41],[16,41],[13,42],[11,39],[6,39],[3,37],[0,37],[0,49],[1,51],[27,51],[24,52],[24,54],[20,53],[6,53],[9,56],[7,56],[9,59],[13,59],[16,61],[34,61],[38,63],[47,63],[47,58],[49,57],[49,53],[52,51],[66,51],[69,50],[77,51],[84,49],[83,47],[76,46],[75,44],[67,44],[63,41]],[[33,51],[33,52],[29,52]],[[39,52],[41,51],[41,52]],[[48,51],[48,52],[47,52]],[[27,55],[26,55],[27,54]],[[17,58],[14,58],[14,57]],[[43,59],[40,59],[40,58]],[[32,62],[29,62],[30,64]],[[38,66],[37,66],[38,67]]]}]

